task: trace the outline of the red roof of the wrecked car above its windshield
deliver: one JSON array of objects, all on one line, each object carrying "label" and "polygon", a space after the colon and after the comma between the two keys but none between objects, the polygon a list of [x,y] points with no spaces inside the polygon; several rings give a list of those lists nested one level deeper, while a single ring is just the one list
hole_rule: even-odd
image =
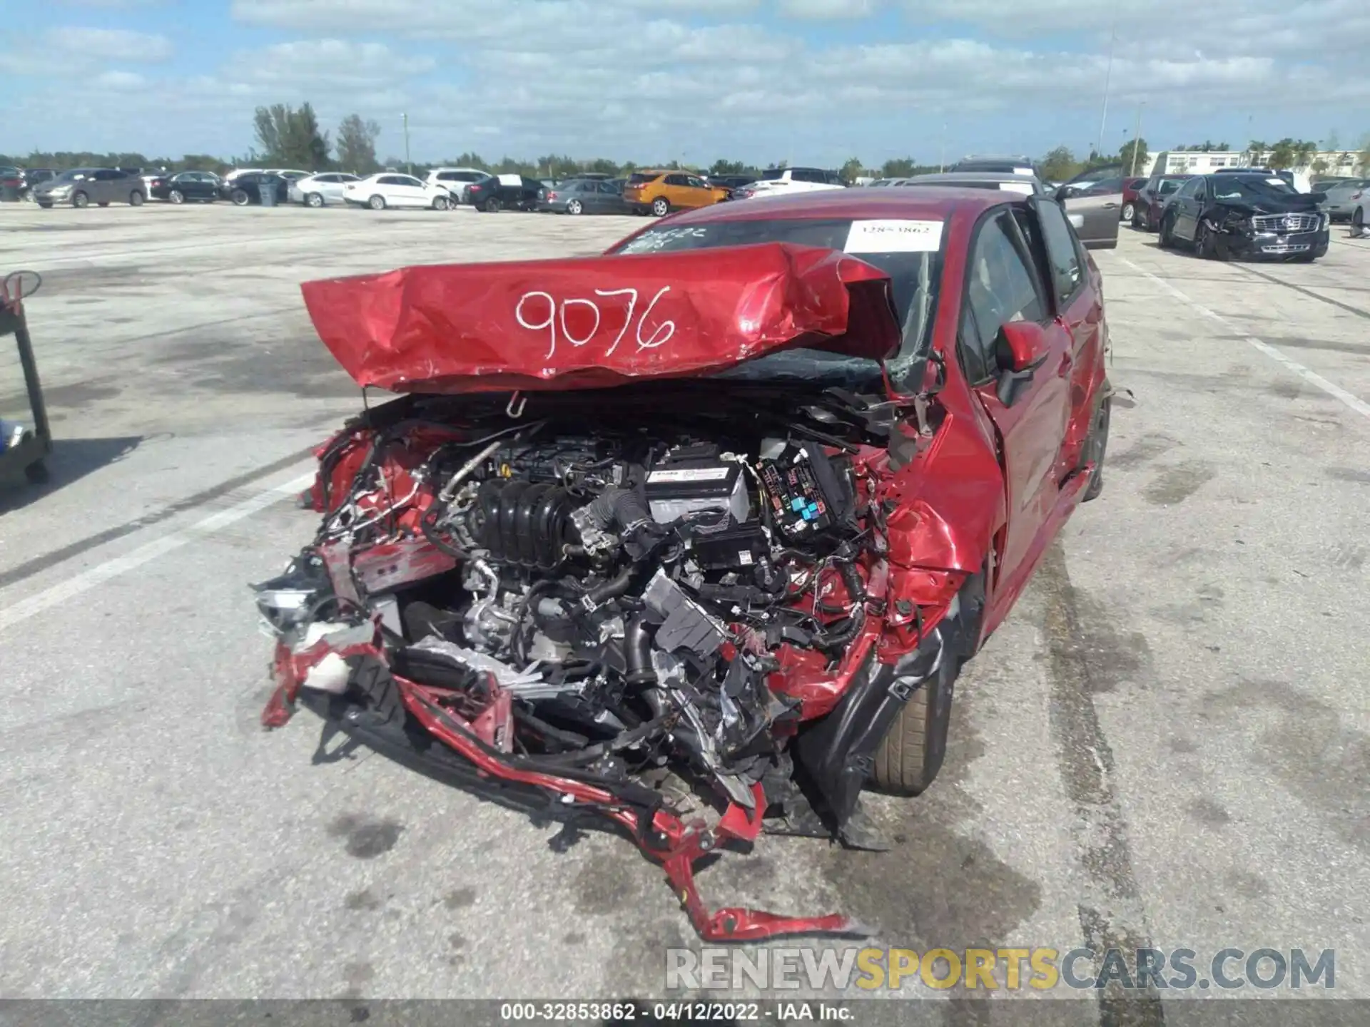
[{"label": "red roof of the wrecked car above its windshield", "polygon": [[989,189],[929,186],[926,189],[823,189],[797,196],[719,203],[674,215],[673,225],[697,225],[722,220],[762,220],[769,218],[937,218],[945,220],[954,211],[978,215],[999,204],[1021,201],[1021,193]]}]

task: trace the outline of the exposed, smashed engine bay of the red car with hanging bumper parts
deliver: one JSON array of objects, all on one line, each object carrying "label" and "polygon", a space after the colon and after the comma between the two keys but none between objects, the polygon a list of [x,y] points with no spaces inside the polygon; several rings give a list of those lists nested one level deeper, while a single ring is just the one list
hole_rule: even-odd
[{"label": "exposed, smashed engine bay of the red car with hanging bumper parts", "polygon": [[[322,446],[318,535],[255,586],[263,720],[299,700],[373,748],[426,733],[473,782],[595,808],[707,938],[859,931],[710,915],[690,864],[763,817],[860,845],[874,748],[970,652],[966,575],[892,567],[889,404],[593,396],[406,397]],[[722,813],[685,822],[700,794]]]}]

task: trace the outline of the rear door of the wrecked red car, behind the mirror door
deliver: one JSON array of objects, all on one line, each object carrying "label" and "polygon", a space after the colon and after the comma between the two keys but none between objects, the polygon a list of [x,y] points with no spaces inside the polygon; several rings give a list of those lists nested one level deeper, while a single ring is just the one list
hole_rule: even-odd
[{"label": "rear door of the wrecked red car, behind the mirror door", "polygon": [[1056,464],[1056,481],[1078,466],[1085,435],[1093,420],[1095,400],[1103,377],[1107,327],[1104,308],[1089,268],[1089,255],[1071,229],[1060,204],[1029,200],[1019,227],[1037,256],[1038,272],[1048,283],[1052,309],[1070,333],[1070,394],[1066,438]]}]

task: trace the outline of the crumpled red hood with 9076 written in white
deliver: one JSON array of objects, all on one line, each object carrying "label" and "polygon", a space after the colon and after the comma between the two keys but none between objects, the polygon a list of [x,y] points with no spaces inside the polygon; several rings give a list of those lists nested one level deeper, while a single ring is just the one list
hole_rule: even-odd
[{"label": "crumpled red hood with 9076 written in white", "polygon": [[884,271],[780,242],[416,266],[300,290],[353,381],[389,392],[603,388],[790,346],[877,360],[899,348]]}]

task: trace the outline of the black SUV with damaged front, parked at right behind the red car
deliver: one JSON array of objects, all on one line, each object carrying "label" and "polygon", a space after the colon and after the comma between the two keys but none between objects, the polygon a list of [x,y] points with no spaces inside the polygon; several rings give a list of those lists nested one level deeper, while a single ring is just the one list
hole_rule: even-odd
[{"label": "black SUV with damaged front, parked at right behind the red car", "polygon": [[1160,245],[1218,260],[1317,260],[1330,234],[1323,199],[1265,173],[1195,175],[1160,212]]}]

